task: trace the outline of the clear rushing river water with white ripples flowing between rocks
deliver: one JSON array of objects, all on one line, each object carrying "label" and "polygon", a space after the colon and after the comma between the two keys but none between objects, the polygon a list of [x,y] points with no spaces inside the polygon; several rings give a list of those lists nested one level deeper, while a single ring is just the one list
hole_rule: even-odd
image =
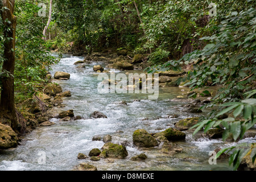
[{"label": "clear rushing river water with white ripples flowing between rocks", "polygon": [[[0,170],[72,170],[81,162],[88,162],[98,170],[231,170],[227,160],[217,160],[216,165],[210,165],[209,152],[217,147],[228,147],[234,143],[222,142],[221,139],[195,139],[189,131],[185,141],[175,142],[184,150],[175,155],[160,152],[159,147],[141,149],[133,146],[133,132],[137,129],[146,129],[149,133],[163,131],[174,127],[174,123],[183,118],[206,114],[190,114],[184,112],[186,103],[171,102],[170,99],[188,88],[160,88],[158,100],[148,100],[147,94],[100,94],[97,91],[97,74],[93,72],[92,63],[86,68],[77,69],[74,65],[82,57],[63,55],[59,64],[53,65],[52,75],[56,71],[71,73],[68,81],[54,80],[63,87],[71,90],[72,97],[64,98],[66,107],[60,110],[73,109],[75,115],[85,119],[60,122],[53,118],[56,124],[49,127],[38,127],[20,143],[17,148],[0,150]],[[104,65],[104,63],[102,63]],[[119,71],[115,71],[118,73]],[[135,72],[135,71],[133,71]],[[125,72],[124,72],[125,73]],[[216,91],[216,88],[211,88]],[[133,100],[141,100],[133,101]],[[119,102],[126,101],[127,105]],[[90,119],[93,111],[101,111],[108,118]],[[179,118],[164,118],[170,114],[177,114]],[[143,120],[148,118],[148,120]],[[81,152],[86,155],[92,148],[101,148],[102,141],[92,141],[96,135],[112,135],[113,143],[127,143],[129,155],[126,159],[101,159],[92,162],[89,158],[78,160]],[[255,138],[247,138],[240,142],[256,142]],[[148,159],[144,162],[130,160],[132,156],[144,153]],[[46,156],[42,163],[42,156]]]}]

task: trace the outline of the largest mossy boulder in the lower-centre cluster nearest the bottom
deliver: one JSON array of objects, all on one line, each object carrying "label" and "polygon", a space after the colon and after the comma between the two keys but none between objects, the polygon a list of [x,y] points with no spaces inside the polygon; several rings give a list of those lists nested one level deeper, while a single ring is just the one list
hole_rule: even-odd
[{"label": "largest mossy boulder in the lower-centre cluster nearest the bottom", "polygon": [[121,144],[114,144],[114,143],[105,143],[104,146],[101,148],[101,157],[104,158],[117,158],[117,159],[125,159],[128,155],[125,146]]}]

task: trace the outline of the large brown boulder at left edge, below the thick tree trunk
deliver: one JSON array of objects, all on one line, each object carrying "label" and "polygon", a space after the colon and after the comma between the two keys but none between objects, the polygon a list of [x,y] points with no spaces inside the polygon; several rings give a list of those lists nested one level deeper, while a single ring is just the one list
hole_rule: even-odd
[{"label": "large brown boulder at left edge, below the thick tree trunk", "polygon": [[6,150],[18,145],[18,138],[10,126],[0,123],[0,149]]}]

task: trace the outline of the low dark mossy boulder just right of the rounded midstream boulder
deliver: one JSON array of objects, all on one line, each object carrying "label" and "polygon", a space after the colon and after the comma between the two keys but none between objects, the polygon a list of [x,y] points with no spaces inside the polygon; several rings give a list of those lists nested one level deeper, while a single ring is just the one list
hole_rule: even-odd
[{"label": "low dark mossy boulder just right of the rounded midstream boulder", "polygon": [[183,140],[185,139],[186,134],[170,127],[169,129],[166,129],[160,133],[156,133],[153,137],[158,138],[160,136],[164,136],[170,141],[170,140]]}]

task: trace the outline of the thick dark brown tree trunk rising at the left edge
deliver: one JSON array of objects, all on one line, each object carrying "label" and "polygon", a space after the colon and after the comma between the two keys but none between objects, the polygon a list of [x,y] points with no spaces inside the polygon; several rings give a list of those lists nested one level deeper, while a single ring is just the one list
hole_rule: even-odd
[{"label": "thick dark brown tree trunk rising at the left edge", "polygon": [[[4,25],[3,35],[6,40],[3,43],[3,67],[2,72],[5,73],[1,77],[2,90],[0,102],[0,119],[1,123],[16,129],[17,121],[14,105],[14,67],[15,67],[15,31],[16,16],[14,16],[15,0],[2,0],[0,2],[2,23]],[[7,7],[3,9],[2,7]],[[9,30],[8,30],[8,29]],[[8,38],[8,39],[7,39]]]}]

